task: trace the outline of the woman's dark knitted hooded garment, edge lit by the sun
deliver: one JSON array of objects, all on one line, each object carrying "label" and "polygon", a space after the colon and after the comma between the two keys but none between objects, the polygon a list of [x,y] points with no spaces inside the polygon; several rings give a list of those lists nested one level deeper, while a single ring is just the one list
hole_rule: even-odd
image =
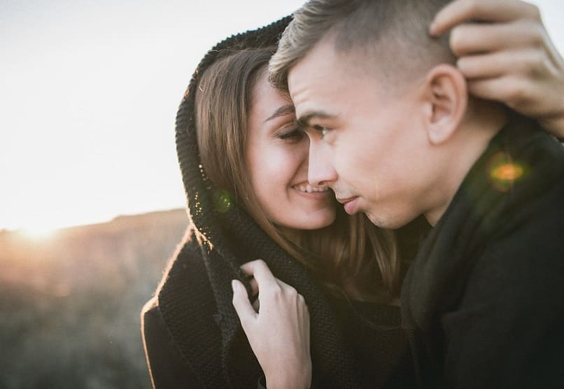
[{"label": "woman's dark knitted hooded garment, edge lit by the sun", "polygon": [[257,258],[306,300],[313,386],[373,388],[376,382],[386,382],[390,388],[412,386],[411,354],[399,328],[398,309],[390,312],[390,307],[369,306],[359,317],[369,316],[369,323],[392,323],[388,326],[392,328],[370,328],[363,324],[364,317],[354,319],[357,309],[328,297],[308,271],[237,204],[214,206],[221,192],[202,170],[194,125],[193,91],[199,73],[232,50],[275,44],[288,21],[286,17],[218,43],[200,62],[178,109],[176,148],[192,229],[141,313],[143,342],[156,388],[257,386],[262,371],[232,306],[231,290],[232,279],[244,281],[239,266]]}]

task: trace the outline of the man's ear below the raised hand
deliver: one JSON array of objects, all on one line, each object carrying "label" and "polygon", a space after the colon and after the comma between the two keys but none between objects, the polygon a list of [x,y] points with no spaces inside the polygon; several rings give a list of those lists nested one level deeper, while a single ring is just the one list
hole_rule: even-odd
[{"label": "man's ear below the raised hand", "polygon": [[431,144],[439,145],[456,132],[465,116],[466,80],[454,66],[440,64],[427,73],[423,86],[427,136]]}]

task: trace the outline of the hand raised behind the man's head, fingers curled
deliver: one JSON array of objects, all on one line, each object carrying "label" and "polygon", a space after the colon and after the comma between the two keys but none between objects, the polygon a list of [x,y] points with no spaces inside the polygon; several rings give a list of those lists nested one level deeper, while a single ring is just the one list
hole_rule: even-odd
[{"label": "hand raised behind the man's head, fingers curled", "polygon": [[502,101],[564,137],[564,59],[536,6],[519,0],[455,0],[437,14],[430,34],[451,28],[451,49],[472,94]]}]

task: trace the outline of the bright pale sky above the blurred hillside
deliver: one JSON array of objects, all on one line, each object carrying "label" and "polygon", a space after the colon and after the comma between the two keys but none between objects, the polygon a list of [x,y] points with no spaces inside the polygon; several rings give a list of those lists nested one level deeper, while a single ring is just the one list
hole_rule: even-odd
[{"label": "bright pale sky above the blurred hillside", "polygon": [[[564,52],[562,0],[531,1]],[[0,229],[183,207],[176,108],[199,59],[303,0],[0,0]]]}]

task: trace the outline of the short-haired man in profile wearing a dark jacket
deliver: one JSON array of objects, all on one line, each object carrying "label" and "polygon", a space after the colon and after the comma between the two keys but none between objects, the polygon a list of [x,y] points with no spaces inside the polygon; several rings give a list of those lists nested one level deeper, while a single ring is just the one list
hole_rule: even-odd
[{"label": "short-haired man in profile wearing a dark jacket", "polygon": [[564,387],[564,150],[469,97],[427,27],[449,1],[310,1],[271,62],[348,213],[435,228],[402,288],[428,387]]}]

